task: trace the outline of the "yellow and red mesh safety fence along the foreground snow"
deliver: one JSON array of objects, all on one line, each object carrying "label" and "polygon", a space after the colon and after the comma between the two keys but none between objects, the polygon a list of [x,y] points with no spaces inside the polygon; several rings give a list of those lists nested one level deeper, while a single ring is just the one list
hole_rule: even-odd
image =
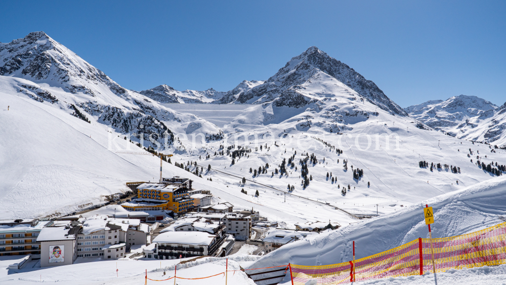
[{"label": "yellow and red mesh safety fence along the foreground snow", "polygon": [[[433,238],[437,272],[506,264],[506,223],[452,237]],[[317,284],[338,284],[374,278],[421,275],[433,270],[431,242],[418,238],[404,245],[345,263],[303,266],[290,264],[293,285],[316,280]]]}]

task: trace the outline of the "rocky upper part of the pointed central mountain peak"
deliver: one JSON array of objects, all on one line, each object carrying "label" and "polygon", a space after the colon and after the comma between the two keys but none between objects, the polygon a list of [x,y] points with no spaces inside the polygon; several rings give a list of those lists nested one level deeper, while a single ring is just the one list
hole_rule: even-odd
[{"label": "rocky upper part of the pointed central mountain peak", "polygon": [[[353,89],[379,108],[394,114],[407,115],[371,80],[365,79],[353,68],[330,57],[317,47],[311,47],[299,56],[293,57],[263,85],[244,92],[237,98],[237,101],[253,104],[277,101],[277,106],[302,107],[314,99],[331,97],[331,94],[325,92],[329,91],[328,88],[323,90],[316,85],[325,87],[330,84],[332,79]],[[305,92],[311,89],[316,92]]]}]

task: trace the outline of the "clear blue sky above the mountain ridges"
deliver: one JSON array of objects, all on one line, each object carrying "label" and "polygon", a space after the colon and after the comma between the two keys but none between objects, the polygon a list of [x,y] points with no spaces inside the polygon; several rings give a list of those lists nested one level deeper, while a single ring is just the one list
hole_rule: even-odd
[{"label": "clear blue sky above the mountain ridges", "polygon": [[45,31],[121,86],[233,89],[317,46],[402,107],[506,101],[506,1],[3,2],[0,42]]}]

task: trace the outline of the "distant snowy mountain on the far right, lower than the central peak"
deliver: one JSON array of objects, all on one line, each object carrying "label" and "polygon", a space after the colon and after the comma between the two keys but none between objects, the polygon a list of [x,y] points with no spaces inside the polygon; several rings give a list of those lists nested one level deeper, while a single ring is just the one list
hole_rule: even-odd
[{"label": "distant snowy mountain on the far right, lower than the central peak", "polygon": [[497,108],[495,104],[476,96],[460,95],[445,101],[427,101],[404,110],[427,126],[460,138],[492,117]]}]

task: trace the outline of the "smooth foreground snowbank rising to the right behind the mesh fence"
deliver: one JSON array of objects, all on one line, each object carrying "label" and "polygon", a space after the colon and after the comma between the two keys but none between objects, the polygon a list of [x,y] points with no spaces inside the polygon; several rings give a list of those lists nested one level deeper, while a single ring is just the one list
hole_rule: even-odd
[{"label": "smooth foreground snowbank rising to the right behind the mesh fence", "polygon": [[476,185],[420,201],[396,213],[312,235],[289,243],[252,264],[250,268],[280,264],[327,265],[363,258],[402,245],[418,237],[428,238],[423,217],[426,204],[433,207],[433,237],[465,234],[504,222],[506,178],[495,178]]}]

